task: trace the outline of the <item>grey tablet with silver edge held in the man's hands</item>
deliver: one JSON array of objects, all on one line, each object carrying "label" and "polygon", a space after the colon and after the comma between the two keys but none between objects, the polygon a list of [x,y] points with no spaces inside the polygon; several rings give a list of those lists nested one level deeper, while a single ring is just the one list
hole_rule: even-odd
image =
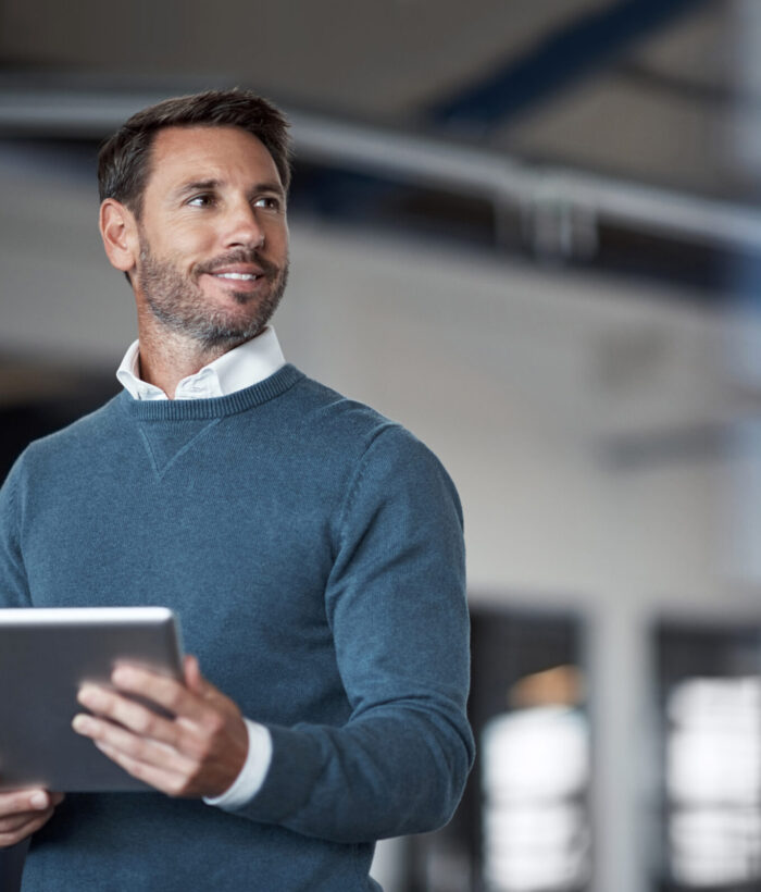
[{"label": "grey tablet with silver edge held in the man's hands", "polygon": [[145,791],[72,729],[85,681],[117,662],[182,678],[176,617],[164,607],[0,609],[0,790]]}]

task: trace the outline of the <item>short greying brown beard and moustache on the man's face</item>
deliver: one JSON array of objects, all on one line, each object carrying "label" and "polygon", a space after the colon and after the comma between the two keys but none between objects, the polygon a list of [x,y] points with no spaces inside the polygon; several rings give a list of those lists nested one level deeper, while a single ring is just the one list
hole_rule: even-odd
[{"label": "short greying brown beard and moustache on the man's face", "polygon": [[[230,292],[234,308],[213,306],[198,281],[202,274],[233,263],[254,263],[266,287],[257,294]],[[165,327],[192,338],[204,350],[230,350],[260,334],[277,309],[287,280],[287,260],[278,268],[257,250],[245,248],[197,264],[186,275],[171,260],[154,257],[148,240],[140,236],[138,281],[151,312]]]}]

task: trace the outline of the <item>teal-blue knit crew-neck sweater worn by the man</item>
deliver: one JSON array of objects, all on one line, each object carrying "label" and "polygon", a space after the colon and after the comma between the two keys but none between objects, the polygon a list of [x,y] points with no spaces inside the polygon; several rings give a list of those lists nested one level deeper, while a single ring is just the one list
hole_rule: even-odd
[{"label": "teal-blue knit crew-neck sweater worn by the man", "polygon": [[32,444],[0,491],[0,604],[165,605],[273,739],[235,813],[70,794],[24,890],[376,889],[374,841],[457,806],[473,759],[457,493],[404,429],[292,366],[219,399],[123,393]]}]

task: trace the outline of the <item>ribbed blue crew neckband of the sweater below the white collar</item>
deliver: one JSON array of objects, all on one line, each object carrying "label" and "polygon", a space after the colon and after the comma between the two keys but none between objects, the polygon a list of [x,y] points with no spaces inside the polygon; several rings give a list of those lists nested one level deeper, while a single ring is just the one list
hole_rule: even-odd
[{"label": "ribbed blue crew neckband of the sweater below the white collar", "polygon": [[287,363],[275,374],[251,387],[214,399],[133,399],[123,391],[116,399],[122,409],[136,421],[211,420],[245,412],[280,396],[304,377],[295,366]]}]

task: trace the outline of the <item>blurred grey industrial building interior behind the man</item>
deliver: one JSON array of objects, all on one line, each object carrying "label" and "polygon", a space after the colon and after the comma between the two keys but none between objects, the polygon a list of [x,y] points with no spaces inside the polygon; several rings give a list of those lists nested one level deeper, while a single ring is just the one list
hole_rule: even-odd
[{"label": "blurred grey industrial building interior behind the man", "polygon": [[296,146],[287,358],[462,496],[479,755],[387,892],[761,890],[761,2],[0,0],[0,476],[116,393],[99,141]]}]

